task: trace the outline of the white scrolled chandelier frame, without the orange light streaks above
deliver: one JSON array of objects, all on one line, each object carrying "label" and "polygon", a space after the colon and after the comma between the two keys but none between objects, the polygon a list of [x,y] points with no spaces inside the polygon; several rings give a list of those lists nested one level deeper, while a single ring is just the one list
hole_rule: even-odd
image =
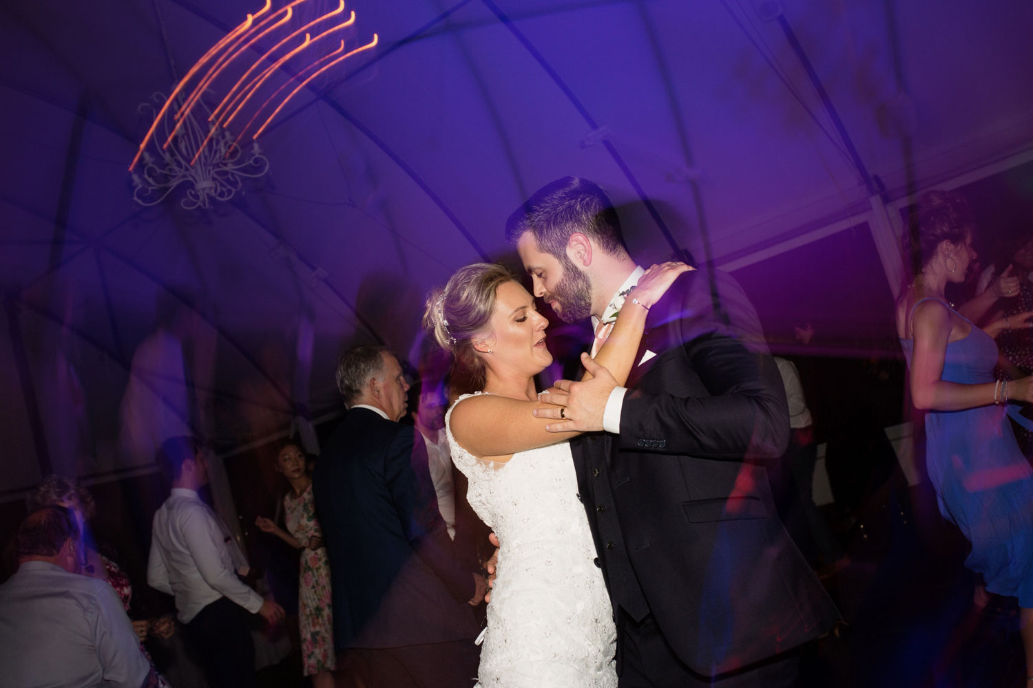
[{"label": "white scrolled chandelier frame, without the orange light streaks above", "polygon": [[[166,102],[164,94],[155,93],[153,102],[142,103],[140,112],[156,117]],[[183,96],[178,96],[180,107]],[[198,101],[207,114],[211,110]],[[207,123],[206,123],[207,124]],[[173,124],[162,121],[164,136],[171,135]],[[201,143],[208,138],[208,142]],[[199,151],[199,155],[196,155]],[[196,157],[196,160],[194,158]],[[183,118],[180,131],[166,149],[158,149],[155,157],[144,151],[144,166],[139,174],[133,173],[132,197],[140,205],[157,205],[177,187],[186,186],[180,205],[188,210],[211,207],[211,201],[226,201],[244,186],[244,179],[257,178],[269,171],[269,160],[261,154],[258,141],[252,141],[245,152],[233,142],[225,129],[209,137],[209,127],[202,127],[191,110]],[[191,164],[191,161],[193,163]]]}]

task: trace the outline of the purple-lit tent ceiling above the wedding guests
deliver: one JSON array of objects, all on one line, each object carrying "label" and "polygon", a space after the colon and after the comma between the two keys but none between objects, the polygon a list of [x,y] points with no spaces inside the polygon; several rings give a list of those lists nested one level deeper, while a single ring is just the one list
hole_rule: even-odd
[{"label": "purple-lit tent ceiling above the wedding guests", "polygon": [[[267,177],[208,211],[139,207],[126,171],[149,125],[137,106],[259,6],[0,7],[0,283],[52,326],[50,288],[71,285],[76,331],[122,375],[155,294],[189,288],[232,363],[224,390],[260,374],[263,345],[289,349],[285,333],[311,313],[313,403],[333,406],[338,343],[408,351],[422,294],[504,255],[509,211],[565,174],[612,192],[645,261],[670,251],[661,225],[720,261],[865,210],[773,7],[891,195],[1033,140],[1030,3],[353,0],[352,43],[376,32],[379,45],[285,109],[260,139]],[[124,384],[101,378],[93,416],[117,409]]]}]

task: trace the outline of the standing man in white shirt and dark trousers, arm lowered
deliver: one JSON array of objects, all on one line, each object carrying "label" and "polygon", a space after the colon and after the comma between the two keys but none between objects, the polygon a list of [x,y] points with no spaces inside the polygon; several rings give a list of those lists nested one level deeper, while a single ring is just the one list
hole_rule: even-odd
[{"label": "standing man in white shirt and dark trousers, arm lowered", "polygon": [[147,582],[176,598],[184,636],[202,657],[213,685],[253,686],[254,645],[245,612],[277,623],[283,608],[238,578],[247,574],[247,559],[197,495],[208,483],[207,463],[195,437],[161,444],[158,464],[173,489],[154,515]]}]

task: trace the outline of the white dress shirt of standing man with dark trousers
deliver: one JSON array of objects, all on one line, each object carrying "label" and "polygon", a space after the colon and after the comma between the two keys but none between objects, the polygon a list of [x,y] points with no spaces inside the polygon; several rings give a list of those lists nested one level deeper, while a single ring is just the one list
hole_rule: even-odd
[{"label": "white dress shirt of standing man with dark trousers", "polygon": [[238,571],[247,572],[247,559],[228,528],[196,492],[173,488],[154,514],[147,582],[176,598],[183,623],[220,597],[255,614],[262,598]]}]

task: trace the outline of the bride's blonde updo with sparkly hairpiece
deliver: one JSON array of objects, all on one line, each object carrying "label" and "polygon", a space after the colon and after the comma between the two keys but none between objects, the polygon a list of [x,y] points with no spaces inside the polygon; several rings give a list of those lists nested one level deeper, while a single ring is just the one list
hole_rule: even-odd
[{"label": "bride's blonde updo with sparkly hairpiece", "polygon": [[424,329],[452,355],[453,368],[475,389],[484,385],[484,362],[472,340],[488,330],[495,310],[495,292],[501,285],[515,281],[501,265],[474,263],[461,267],[444,289],[435,289],[427,298]]}]

